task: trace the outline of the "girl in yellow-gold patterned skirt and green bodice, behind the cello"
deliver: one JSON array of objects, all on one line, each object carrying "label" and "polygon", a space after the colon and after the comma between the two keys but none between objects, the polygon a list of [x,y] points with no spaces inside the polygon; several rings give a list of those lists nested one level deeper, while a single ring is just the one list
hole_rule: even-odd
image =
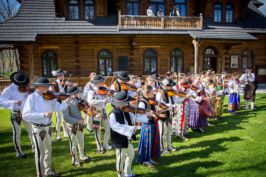
[{"label": "girl in yellow-gold patterned skirt and green bodice, behind the cello", "polygon": [[[217,83],[221,83],[222,82],[222,78],[218,75],[216,75],[216,82]],[[222,119],[221,115],[223,114],[223,88],[222,87],[219,87],[217,85],[217,91],[220,93],[219,96],[217,96],[216,98],[216,108],[215,108],[215,117],[214,119]]]}]

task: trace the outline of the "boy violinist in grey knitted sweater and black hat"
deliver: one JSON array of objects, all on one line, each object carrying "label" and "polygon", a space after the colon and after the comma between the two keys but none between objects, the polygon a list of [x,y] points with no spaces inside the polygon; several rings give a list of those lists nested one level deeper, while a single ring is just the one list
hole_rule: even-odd
[{"label": "boy violinist in grey knitted sweater and black hat", "polygon": [[[71,86],[68,88],[68,95],[79,97],[81,87]],[[84,125],[83,117],[78,109],[79,100],[72,100],[62,111],[63,119],[67,123],[68,137],[70,143],[70,152],[72,156],[72,165],[81,167],[77,157],[77,146],[80,153],[80,160],[90,161],[86,156],[84,149]]]}]

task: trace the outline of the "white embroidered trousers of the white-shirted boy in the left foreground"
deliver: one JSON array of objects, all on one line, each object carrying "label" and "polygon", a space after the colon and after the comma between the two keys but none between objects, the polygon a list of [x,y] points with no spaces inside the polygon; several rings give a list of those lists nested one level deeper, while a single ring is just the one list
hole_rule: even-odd
[{"label": "white embroidered trousers of the white-shirted boy in the left foreground", "polygon": [[52,153],[52,124],[45,127],[32,125],[33,141],[35,144],[35,164],[37,176],[50,176],[54,173],[51,168]]}]

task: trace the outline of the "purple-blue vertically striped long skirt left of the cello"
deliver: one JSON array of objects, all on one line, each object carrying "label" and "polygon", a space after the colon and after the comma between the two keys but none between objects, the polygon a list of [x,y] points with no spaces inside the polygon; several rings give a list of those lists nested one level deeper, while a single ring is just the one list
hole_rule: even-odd
[{"label": "purple-blue vertically striped long skirt left of the cello", "polygon": [[199,112],[200,103],[189,100],[189,128],[208,127],[208,121]]}]

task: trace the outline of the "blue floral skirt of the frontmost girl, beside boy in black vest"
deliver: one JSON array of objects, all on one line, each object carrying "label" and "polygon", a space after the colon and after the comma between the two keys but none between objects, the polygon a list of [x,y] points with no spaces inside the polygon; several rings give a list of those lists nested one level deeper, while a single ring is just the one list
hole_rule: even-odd
[{"label": "blue floral skirt of the frontmost girl, beside boy in black vest", "polygon": [[[153,158],[157,126],[157,122],[155,124],[142,123],[136,162],[148,162],[151,158]],[[155,159],[160,157],[160,134],[158,131]]]}]

